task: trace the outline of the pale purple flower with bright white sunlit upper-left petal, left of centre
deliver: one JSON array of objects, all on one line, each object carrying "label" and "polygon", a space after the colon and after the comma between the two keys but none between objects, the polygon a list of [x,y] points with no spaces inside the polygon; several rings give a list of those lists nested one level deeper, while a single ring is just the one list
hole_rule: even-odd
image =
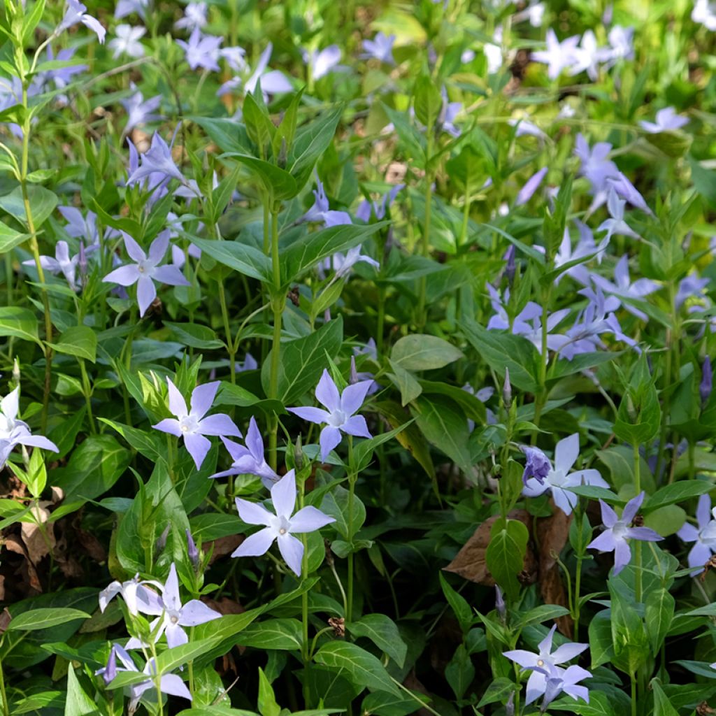
[{"label": "pale purple flower with bright white sunlit upper-left petal, left of centre", "polygon": [[197,470],[201,468],[206,453],[211,448],[211,442],[204,437],[205,435],[241,437],[241,431],[225,413],[204,417],[211,410],[219,384],[220,382],[216,380],[195,387],[191,394],[191,410],[189,410],[183,395],[168,377],[169,410],[176,417],[166,417],[152,426],[170,435],[183,437],[184,445],[193,458]]}]

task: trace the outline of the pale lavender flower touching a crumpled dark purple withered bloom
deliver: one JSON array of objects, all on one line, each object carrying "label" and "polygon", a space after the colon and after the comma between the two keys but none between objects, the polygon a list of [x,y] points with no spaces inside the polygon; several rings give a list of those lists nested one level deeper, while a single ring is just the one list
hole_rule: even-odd
[{"label": "pale lavender flower touching a crumpled dark purple withered bloom", "polygon": [[[549,470],[540,480],[536,477],[528,478],[522,490],[527,497],[538,497],[547,491],[551,492],[555,505],[566,515],[571,515],[577,503],[577,495],[569,488],[579,485],[596,485],[608,488],[609,485],[599,474],[599,470],[577,470],[572,473],[572,465],[579,457],[579,432],[563,438],[554,448],[554,465],[544,455],[549,463]],[[541,465],[541,471],[544,468]]]}]

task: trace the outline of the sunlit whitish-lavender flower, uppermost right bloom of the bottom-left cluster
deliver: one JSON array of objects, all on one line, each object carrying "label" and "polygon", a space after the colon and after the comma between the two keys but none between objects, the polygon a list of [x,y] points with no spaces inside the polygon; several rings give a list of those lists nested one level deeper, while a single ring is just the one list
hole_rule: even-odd
[{"label": "sunlit whitish-lavender flower, uppermost right bloom of the bottom-left cluster", "polygon": [[[170,649],[188,643],[189,637],[184,627],[196,627],[198,624],[204,624],[206,621],[218,619],[221,616],[218,611],[206,606],[199,599],[191,599],[186,604],[181,603],[179,578],[173,562],[169,568],[167,581],[159,586],[162,594],[161,596],[156,595],[156,598],[146,605],[145,614],[157,616],[157,619],[149,625],[150,630],[155,634],[155,641],[165,634],[167,646]],[[159,629],[155,632],[157,627]],[[145,644],[136,637],[132,637],[127,642],[127,649],[137,649],[142,646]]]}]

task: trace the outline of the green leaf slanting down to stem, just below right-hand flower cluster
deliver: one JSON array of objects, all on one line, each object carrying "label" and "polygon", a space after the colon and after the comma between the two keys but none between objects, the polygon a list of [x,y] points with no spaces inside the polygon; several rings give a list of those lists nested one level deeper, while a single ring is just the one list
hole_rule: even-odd
[{"label": "green leaf slanting down to stem, just below right-hand flower cluster", "polygon": [[473,319],[463,316],[460,322],[465,338],[478,355],[501,376],[510,371],[510,382],[520,390],[536,393],[539,390],[537,349],[522,336],[502,331],[488,331]]}]

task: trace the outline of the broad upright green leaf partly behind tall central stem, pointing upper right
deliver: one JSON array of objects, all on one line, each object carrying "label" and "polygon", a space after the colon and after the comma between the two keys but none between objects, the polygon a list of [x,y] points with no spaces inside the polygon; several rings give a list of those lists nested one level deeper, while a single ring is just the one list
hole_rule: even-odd
[{"label": "broad upright green leaf partly behind tall central stem, pointing upper right", "polygon": [[[343,343],[343,318],[338,316],[303,338],[281,344],[279,360],[279,392],[276,399],[284,405],[299,400],[306,392],[315,389],[326,367],[325,355],[337,356]],[[261,385],[270,395],[271,355],[269,351],[261,368]]]}]

